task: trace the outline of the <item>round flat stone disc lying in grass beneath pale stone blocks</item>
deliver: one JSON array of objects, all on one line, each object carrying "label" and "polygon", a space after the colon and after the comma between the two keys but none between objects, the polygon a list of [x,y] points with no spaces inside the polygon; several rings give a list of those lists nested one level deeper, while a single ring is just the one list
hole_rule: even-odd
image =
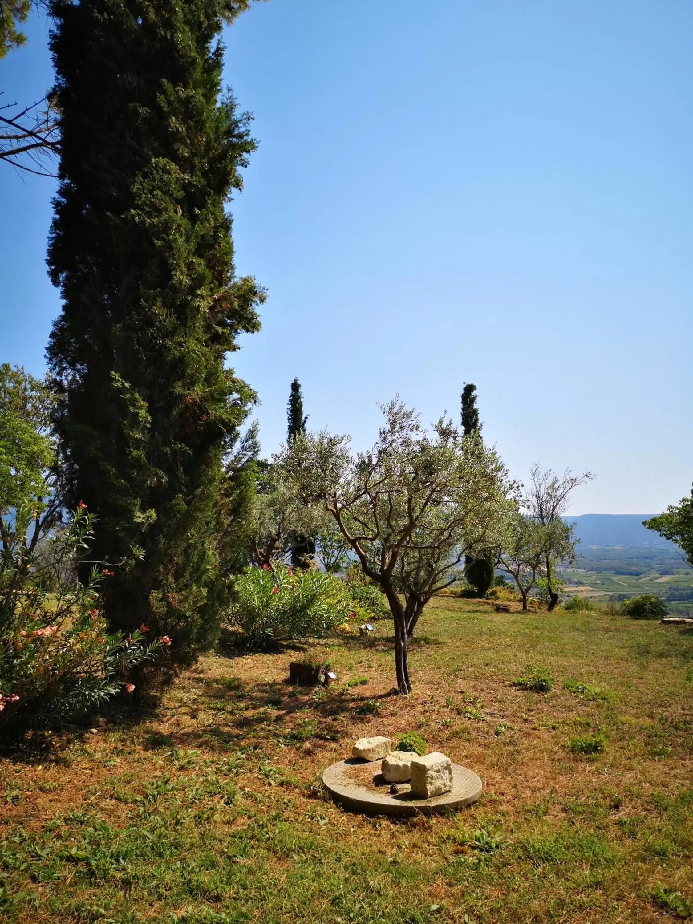
[{"label": "round flat stone disc lying in grass beneath pale stone blocks", "polygon": [[481,795],[481,781],[467,767],[453,764],[453,788],[442,796],[421,799],[412,796],[408,783],[398,783],[399,792],[380,772],[380,760],[340,760],[322,773],[322,784],[335,802],[366,815],[419,815],[455,811],[469,806]]}]

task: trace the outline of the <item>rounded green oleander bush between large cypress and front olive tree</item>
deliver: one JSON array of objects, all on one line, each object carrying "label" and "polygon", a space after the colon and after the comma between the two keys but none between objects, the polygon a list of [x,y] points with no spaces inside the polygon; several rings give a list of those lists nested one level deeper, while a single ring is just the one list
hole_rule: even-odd
[{"label": "rounded green oleander bush between large cypress and front olive tree", "polygon": [[275,564],[246,568],[233,582],[229,625],[259,648],[281,639],[322,638],[356,619],[346,585],[322,571]]}]

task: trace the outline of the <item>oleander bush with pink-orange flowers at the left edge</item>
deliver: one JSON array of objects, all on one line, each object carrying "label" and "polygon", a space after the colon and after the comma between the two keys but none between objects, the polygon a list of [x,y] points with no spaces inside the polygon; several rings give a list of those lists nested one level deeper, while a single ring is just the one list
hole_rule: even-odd
[{"label": "oleander bush with pink-orange flowers at the left edge", "polygon": [[107,631],[99,589],[112,571],[92,571],[86,585],[72,576],[75,555],[93,534],[93,517],[83,507],[43,542],[40,558],[26,541],[35,517],[34,507],[22,505],[13,521],[6,517],[3,523],[0,726],[5,727],[72,718],[118,692],[131,693],[133,668],[170,644],[167,637],[148,641],[147,626],[127,638]]}]

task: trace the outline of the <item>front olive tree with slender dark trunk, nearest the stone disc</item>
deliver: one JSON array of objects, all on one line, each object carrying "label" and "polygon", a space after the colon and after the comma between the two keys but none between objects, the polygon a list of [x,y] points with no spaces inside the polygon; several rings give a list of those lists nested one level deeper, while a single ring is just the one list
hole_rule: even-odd
[{"label": "front olive tree with slender dark trunk, nearest the stone disc", "polygon": [[508,486],[505,467],[480,437],[465,437],[444,418],[426,432],[399,399],[382,409],[368,451],[353,454],[346,436],[308,432],[274,464],[303,504],[321,504],[334,518],[383,590],[395,626],[397,690],[406,694],[407,631],[432,593],[456,579],[464,555],[499,528]]}]

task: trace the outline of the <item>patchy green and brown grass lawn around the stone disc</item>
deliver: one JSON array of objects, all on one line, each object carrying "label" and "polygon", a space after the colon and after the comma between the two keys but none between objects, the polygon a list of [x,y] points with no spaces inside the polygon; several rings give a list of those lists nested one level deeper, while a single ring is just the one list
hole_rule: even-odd
[{"label": "patchy green and brown grass lawn around the stone disc", "polygon": [[[317,694],[286,686],[296,650],[220,653],[139,716],[6,754],[0,919],[693,916],[693,634],[447,597],[419,626],[408,699],[383,622],[307,647],[339,678]],[[550,692],[512,686],[529,665]],[[393,821],[325,798],[357,737],[407,731],[480,774],[475,807]]]}]

